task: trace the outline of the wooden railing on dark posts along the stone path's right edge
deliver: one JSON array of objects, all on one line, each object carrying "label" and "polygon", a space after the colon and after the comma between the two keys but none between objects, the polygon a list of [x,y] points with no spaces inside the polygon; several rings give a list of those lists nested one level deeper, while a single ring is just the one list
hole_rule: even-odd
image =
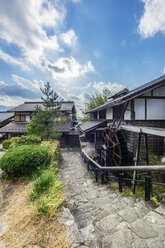
[{"label": "wooden railing on dark posts along the stone path's right edge", "polygon": [[[151,172],[165,172],[165,166],[163,165],[138,165],[138,166],[111,166],[111,167],[103,167],[94,161],[84,150],[81,151],[81,156],[83,157],[85,163],[87,164],[88,170],[92,170],[95,173],[96,181],[98,181],[99,177],[101,179],[101,184],[104,184],[106,178],[116,179],[118,180],[119,192],[122,192],[123,189],[123,181],[132,181],[130,178],[124,177],[124,171],[143,171],[148,172],[145,176],[145,180],[135,180],[136,183],[144,183],[145,185],[145,201],[150,200],[152,184],[165,186],[165,183],[152,182]],[[118,171],[118,176],[109,176],[108,172]]]}]

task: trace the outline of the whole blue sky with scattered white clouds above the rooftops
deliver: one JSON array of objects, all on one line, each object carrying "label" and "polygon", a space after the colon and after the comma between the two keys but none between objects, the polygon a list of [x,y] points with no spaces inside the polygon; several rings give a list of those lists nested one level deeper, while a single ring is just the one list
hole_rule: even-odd
[{"label": "whole blue sky with scattered white clouds above the rooftops", "polygon": [[164,0],[0,0],[0,110],[50,82],[81,109],[165,73]]}]

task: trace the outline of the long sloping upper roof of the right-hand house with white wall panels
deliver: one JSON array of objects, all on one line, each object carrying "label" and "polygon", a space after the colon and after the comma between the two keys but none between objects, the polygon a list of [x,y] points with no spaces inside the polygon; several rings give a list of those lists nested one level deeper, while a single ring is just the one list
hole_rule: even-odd
[{"label": "long sloping upper roof of the right-hand house with white wall panels", "polygon": [[140,96],[140,95],[142,95],[142,94],[144,94],[150,90],[161,87],[163,85],[165,85],[165,75],[162,77],[159,77],[155,80],[152,80],[149,83],[143,84],[143,85],[135,88],[134,90],[129,91],[126,95],[120,96],[120,97],[115,98],[113,100],[109,100],[108,102],[104,103],[103,105],[101,105],[95,109],[92,109],[86,113],[92,113],[92,112],[95,112],[98,110],[103,110],[103,109],[106,109],[109,107],[123,104],[123,103],[130,101],[130,100],[132,100],[132,99],[134,99],[134,98],[136,98],[136,97],[138,97],[138,96]]}]

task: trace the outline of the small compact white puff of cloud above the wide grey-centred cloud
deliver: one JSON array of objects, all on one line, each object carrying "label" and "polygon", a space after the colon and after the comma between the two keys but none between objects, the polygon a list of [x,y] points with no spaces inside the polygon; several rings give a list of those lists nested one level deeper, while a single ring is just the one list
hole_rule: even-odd
[{"label": "small compact white puff of cloud above the wide grey-centred cloud", "polygon": [[70,29],[66,33],[62,33],[59,36],[60,40],[64,42],[67,46],[74,47],[78,43],[78,38],[73,29]]}]

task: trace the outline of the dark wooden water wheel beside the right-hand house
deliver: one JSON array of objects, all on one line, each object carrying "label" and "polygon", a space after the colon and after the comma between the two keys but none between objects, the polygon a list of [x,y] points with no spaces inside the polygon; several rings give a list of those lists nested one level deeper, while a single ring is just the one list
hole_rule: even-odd
[{"label": "dark wooden water wheel beside the right-hand house", "polygon": [[103,131],[104,144],[107,147],[107,162],[111,166],[120,166],[121,164],[121,146],[115,129],[106,127]]}]

